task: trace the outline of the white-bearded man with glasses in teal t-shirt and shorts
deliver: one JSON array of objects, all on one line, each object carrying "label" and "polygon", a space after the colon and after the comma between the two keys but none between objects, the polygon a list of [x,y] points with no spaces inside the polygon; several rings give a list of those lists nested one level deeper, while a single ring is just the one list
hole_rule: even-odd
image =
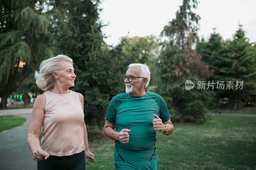
[{"label": "white-bearded man with glasses in teal t-shirt and shorts", "polygon": [[116,170],[158,169],[156,131],[166,136],[173,132],[163,98],[145,90],[149,80],[147,64],[130,64],[124,76],[126,92],[109,103],[103,131],[115,140]]}]

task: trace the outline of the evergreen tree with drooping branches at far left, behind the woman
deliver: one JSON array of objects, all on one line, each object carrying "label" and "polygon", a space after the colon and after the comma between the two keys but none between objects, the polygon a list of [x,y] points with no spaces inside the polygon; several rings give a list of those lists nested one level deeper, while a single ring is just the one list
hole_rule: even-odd
[{"label": "evergreen tree with drooping branches at far left, behind the woman", "polygon": [[52,52],[47,46],[49,24],[42,4],[7,0],[0,6],[1,108],[7,108],[7,96]]}]

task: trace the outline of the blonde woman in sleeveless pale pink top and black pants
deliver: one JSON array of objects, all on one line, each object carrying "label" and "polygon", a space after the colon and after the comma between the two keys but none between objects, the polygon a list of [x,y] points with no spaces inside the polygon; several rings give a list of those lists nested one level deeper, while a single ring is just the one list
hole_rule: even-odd
[{"label": "blonde woman in sleeveless pale pink top and black pants", "polygon": [[91,162],[95,159],[88,147],[84,97],[68,90],[75,85],[73,60],[57,55],[44,60],[39,69],[36,84],[45,92],[36,98],[27,135],[37,169],[84,170],[84,155]]}]

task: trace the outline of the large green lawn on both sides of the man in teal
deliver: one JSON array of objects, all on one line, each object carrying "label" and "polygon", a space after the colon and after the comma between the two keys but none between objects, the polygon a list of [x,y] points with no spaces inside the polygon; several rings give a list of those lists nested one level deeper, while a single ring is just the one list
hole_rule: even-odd
[{"label": "large green lawn on both sides of the man in teal", "polygon": [[[214,115],[205,125],[174,123],[174,133],[157,132],[160,170],[256,169],[256,117]],[[86,169],[114,170],[114,141],[100,130],[88,130],[96,162]]]}]

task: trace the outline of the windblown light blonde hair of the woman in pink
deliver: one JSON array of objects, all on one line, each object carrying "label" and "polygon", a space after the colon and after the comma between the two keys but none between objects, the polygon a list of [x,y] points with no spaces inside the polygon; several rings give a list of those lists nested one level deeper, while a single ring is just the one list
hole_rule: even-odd
[{"label": "windblown light blonde hair of the woman in pink", "polygon": [[63,62],[73,65],[73,60],[66,55],[57,55],[42,61],[39,70],[35,72],[36,85],[43,91],[52,90],[55,85],[52,73],[59,73],[63,69]]}]

